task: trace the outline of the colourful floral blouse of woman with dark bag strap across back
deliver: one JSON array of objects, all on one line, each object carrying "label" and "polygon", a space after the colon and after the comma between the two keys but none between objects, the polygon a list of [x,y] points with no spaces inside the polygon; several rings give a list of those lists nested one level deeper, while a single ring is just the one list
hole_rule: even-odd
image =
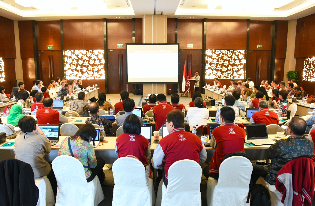
[{"label": "colourful floral blouse of woman with dark bag strap across back", "polygon": [[[69,138],[70,137],[67,137],[66,139],[62,140],[58,156],[60,155],[71,156],[68,146]],[[81,137],[77,137],[70,140],[70,144],[73,156],[82,163],[85,172],[85,177],[86,179],[88,179],[92,175],[92,171],[90,170],[90,168],[95,168],[97,165],[97,160],[93,146],[89,142],[81,139]],[[84,166],[89,166],[89,168]]]}]

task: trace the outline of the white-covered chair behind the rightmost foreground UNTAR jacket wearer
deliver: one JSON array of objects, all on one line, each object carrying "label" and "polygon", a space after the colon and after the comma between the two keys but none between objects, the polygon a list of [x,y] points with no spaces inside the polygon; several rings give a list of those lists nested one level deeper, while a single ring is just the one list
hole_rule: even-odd
[{"label": "white-covered chair behind the rightmost foreground UNTAR jacket wearer", "polygon": [[[233,168],[233,173],[231,173],[231,168]],[[219,168],[219,180],[208,178],[208,206],[249,206],[246,201],[252,171],[252,163],[245,157],[233,156],[225,159]]]}]

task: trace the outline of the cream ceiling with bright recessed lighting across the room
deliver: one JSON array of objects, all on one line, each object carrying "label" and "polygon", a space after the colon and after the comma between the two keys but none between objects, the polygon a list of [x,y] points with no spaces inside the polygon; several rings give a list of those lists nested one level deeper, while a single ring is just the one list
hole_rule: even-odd
[{"label": "cream ceiling with bright recessed lighting across the room", "polygon": [[315,0],[0,0],[14,20],[130,19],[144,14],[179,19],[290,20],[315,13]]}]

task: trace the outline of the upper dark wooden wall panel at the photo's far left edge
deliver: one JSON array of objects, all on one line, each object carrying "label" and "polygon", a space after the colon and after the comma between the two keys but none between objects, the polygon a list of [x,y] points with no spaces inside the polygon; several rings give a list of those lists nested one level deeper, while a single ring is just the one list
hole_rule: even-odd
[{"label": "upper dark wooden wall panel at the photo's far left edge", "polygon": [[16,58],[13,20],[0,16],[0,57]]}]

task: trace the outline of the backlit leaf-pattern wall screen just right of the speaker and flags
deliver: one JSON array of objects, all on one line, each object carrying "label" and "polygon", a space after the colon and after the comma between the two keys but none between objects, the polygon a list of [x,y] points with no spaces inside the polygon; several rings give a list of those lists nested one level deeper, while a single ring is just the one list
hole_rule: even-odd
[{"label": "backlit leaf-pattern wall screen just right of the speaker and flags", "polygon": [[245,50],[206,50],[206,79],[244,79]]}]

